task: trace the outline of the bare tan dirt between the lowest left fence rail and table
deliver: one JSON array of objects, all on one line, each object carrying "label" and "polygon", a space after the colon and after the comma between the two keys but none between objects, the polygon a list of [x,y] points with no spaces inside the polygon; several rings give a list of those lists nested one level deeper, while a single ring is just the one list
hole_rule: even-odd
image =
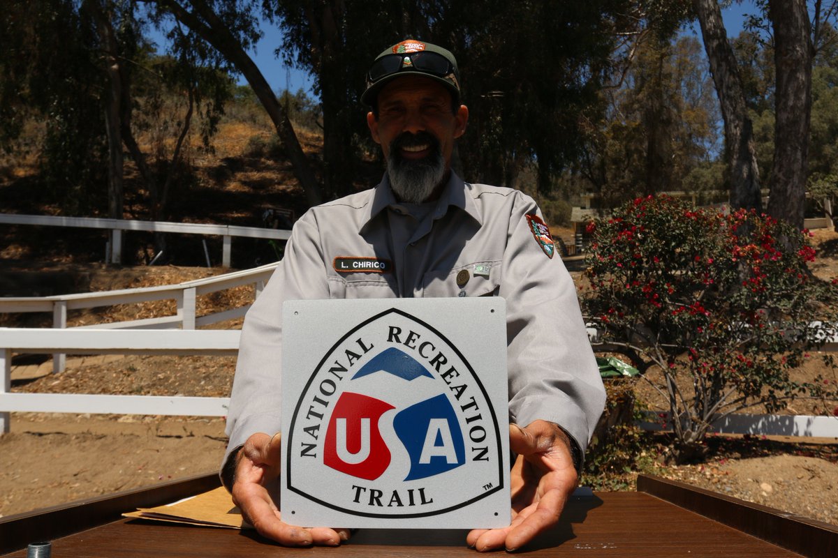
[{"label": "bare tan dirt between the lowest left fence rail and table", "polygon": [[0,514],[209,473],[224,448],[221,418],[14,413],[0,438]]}]

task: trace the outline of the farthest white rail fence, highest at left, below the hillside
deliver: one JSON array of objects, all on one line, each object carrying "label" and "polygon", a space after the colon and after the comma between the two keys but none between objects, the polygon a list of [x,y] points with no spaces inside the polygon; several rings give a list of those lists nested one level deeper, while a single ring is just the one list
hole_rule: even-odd
[{"label": "farthest white rail fence, highest at left, below the hillside", "polygon": [[274,228],[237,227],[234,225],[210,225],[203,223],[168,223],[165,221],[130,221],[123,219],[101,219],[86,217],[54,217],[49,215],[18,215],[0,213],[0,223],[8,225],[41,225],[47,227],[103,228],[111,232],[110,258],[114,264],[122,263],[122,231],[146,231],[150,233],[205,234],[223,237],[221,266],[230,267],[232,238],[271,238],[287,240],[291,231]]}]

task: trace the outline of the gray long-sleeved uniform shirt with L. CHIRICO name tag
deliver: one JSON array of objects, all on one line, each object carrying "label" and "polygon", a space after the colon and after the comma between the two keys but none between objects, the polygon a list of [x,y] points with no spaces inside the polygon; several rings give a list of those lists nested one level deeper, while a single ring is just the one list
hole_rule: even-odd
[{"label": "gray long-sleeved uniform shirt with L. CHIRICO name tag", "polygon": [[385,177],[306,212],[242,328],[225,462],[251,434],[282,425],[282,303],[289,299],[504,297],[510,420],[556,422],[584,450],[605,403],[603,382],[570,274],[561,257],[548,257],[528,214],[540,212],[525,194],[468,184],[453,172],[430,210],[396,202]]}]

